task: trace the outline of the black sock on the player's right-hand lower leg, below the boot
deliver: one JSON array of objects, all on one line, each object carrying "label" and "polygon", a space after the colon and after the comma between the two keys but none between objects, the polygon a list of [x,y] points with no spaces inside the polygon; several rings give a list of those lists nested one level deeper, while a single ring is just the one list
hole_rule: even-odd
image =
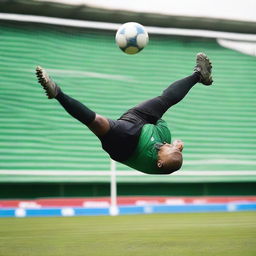
[{"label": "black sock on the player's right-hand lower leg, below the boot", "polygon": [[189,90],[200,80],[200,74],[195,72],[191,76],[185,77],[181,80],[178,80],[172,83],[167,89],[163,91],[163,94],[160,96],[167,107],[171,107],[174,104],[181,101]]}]

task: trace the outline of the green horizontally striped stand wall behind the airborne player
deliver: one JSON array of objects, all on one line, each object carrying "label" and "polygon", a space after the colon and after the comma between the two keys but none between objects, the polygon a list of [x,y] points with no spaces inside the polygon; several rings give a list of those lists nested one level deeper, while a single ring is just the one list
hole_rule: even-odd
[{"label": "green horizontally striped stand wall behind the airborne player", "polygon": [[[118,118],[189,75],[200,51],[212,59],[214,85],[197,85],[164,116],[172,137],[185,141],[182,170],[169,176],[135,173],[118,182],[256,181],[255,57],[210,39],[151,35],[147,48],[128,56],[115,45],[114,31],[6,21],[0,31],[1,182],[109,181],[108,175],[83,175],[108,172],[110,159],[85,126],[43,95],[36,65],[64,92]],[[129,169],[117,164],[117,170]]]}]

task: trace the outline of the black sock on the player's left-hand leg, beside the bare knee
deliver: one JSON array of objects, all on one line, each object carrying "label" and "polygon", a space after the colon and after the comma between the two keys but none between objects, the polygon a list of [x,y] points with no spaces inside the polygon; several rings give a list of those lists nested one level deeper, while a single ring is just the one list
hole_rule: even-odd
[{"label": "black sock on the player's left-hand leg, beside the bare knee", "polygon": [[71,116],[73,116],[83,124],[89,125],[90,123],[92,123],[92,121],[94,121],[96,116],[95,112],[87,108],[79,101],[64,94],[61,90],[55,97],[55,99],[59,101],[59,103]]}]

